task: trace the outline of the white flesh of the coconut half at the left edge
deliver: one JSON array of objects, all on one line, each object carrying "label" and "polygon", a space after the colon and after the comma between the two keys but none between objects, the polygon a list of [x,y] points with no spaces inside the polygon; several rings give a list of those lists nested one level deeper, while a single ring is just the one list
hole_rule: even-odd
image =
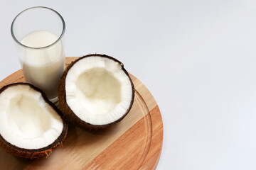
[{"label": "white flesh of the coconut half at the left edge", "polygon": [[52,144],[63,130],[60,115],[28,85],[10,86],[0,94],[0,134],[24,149]]}]

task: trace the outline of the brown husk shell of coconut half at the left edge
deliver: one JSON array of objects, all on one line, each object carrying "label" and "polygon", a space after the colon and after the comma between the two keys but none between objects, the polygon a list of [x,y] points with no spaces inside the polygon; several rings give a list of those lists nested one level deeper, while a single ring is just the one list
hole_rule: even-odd
[{"label": "brown husk shell of coconut half at the left edge", "polygon": [[[61,113],[60,110],[58,110],[58,108],[48,100],[48,98],[46,97],[46,94],[44,94],[43,91],[41,91],[40,89],[36,88],[31,84],[28,84],[28,83],[9,84],[0,89],[0,94],[7,88],[11,86],[17,86],[17,85],[31,86],[31,88],[35,89],[36,91],[39,91],[42,94],[43,99],[61,116],[61,118],[63,117],[63,113]],[[15,145],[12,145],[10,142],[7,142],[4,139],[4,137],[1,136],[1,134],[0,134],[0,145],[6,152],[14,154],[17,157],[22,157],[27,159],[37,159],[40,157],[48,157],[50,153],[53,152],[54,149],[62,146],[63,141],[67,136],[67,133],[68,133],[68,123],[66,123],[66,121],[63,120],[63,131],[61,132],[60,136],[52,144],[48,145],[47,147],[43,147],[40,149],[25,149],[21,147],[16,147]]]}]

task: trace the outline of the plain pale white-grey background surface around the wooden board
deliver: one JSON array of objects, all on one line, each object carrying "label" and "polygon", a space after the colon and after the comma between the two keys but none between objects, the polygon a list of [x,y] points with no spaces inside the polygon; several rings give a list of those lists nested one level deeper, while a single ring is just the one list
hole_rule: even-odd
[{"label": "plain pale white-grey background surface around the wooden board", "polygon": [[48,6],[65,53],[116,57],[164,121],[157,169],[256,169],[256,3],[252,0],[0,0],[0,79],[20,69],[11,21]]}]

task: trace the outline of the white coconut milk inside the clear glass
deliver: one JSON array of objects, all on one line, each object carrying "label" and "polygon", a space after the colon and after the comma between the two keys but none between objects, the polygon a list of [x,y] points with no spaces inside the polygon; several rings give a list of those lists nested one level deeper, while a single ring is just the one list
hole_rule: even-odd
[{"label": "white coconut milk inside the clear glass", "polygon": [[[58,81],[64,71],[65,52],[58,36],[45,30],[26,35],[20,61],[28,83],[43,90],[49,99],[57,97]],[[53,42],[55,42],[53,44]],[[33,47],[33,48],[29,48]],[[37,49],[38,48],[38,49]]]}]

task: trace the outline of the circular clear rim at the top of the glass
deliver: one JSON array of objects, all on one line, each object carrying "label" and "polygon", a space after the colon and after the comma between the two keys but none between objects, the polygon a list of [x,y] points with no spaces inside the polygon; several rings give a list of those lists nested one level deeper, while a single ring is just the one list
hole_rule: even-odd
[{"label": "circular clear rim at the top of the glass", "polygon": [[[33,9],[33,8],[46,8],[46,9],[48,9],[48,10],[50,10],[50,11],[53,11],[54,13],[56,13],[56,14],[60,17],[60,20],[61,20],[62,23],[63,23],[63,30],[62,30],[62,33],[60,34],[60,36],[58,37],[58,39],[55,40],[55,42],[51,43],[50,45],[46,45],[46,46],[43,46],[43,47],[29,47],[29,46],[27,46],[27,45],[23,45],[19,40],[17,40],[17,38],[16,38],[15,35],[14,35],[14,23],[15,23],[16,19],[18,18],[18,16],[20,16],[22,13],[24,13],[24,12],[30,10],[30,9]],[[48,8],[48,7],[46,7],[46,6],[33,6],[33,7],[31,7],[31,8],[26,8],[25,10],[21,11],[20,13],[18,13],[18,15],[14,18],[14,21],[12,21],[12,23],[11,23],[11,36],[12,36],[12,38],[18,43],[18,45],[21,45],[21,46],[23,46],[23,47],[27,47],[27,48],[30,48],[30,49],[44,49],[44,48],[50,47],[50,46],[52,46],[52,45],[55,45],[57,42],[59,42],[59,41],[61,40],[61,38],[63,38],[64,33],[65,33],[65,21],[64,21],[63,17],[60,15],[60,13],[58,13],[58,12],[55,11],[54,9]]]}]

